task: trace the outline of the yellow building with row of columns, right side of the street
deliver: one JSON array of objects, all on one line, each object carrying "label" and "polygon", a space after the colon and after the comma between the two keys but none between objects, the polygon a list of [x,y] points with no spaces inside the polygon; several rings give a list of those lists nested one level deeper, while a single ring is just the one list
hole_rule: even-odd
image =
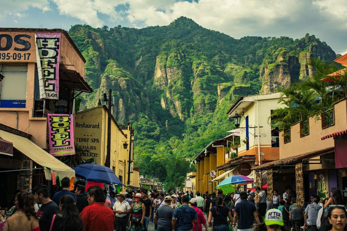
[{"label": "yellow building with row of columns, right side of the street", "polygon": [[214,192],[215,187],[218,185],[216,182],[211,182],[214,178],[210,175],[213,170],[216,172],[216,177],[223,174],[223,171],[217,171],[217,166],[225,163],[225,148],[227,141],[224,139],[214,140],[203,149],[197,157],[194,158],[193,163],[196,163],[196,177],[195,177],[195,191],[205,193]]}]

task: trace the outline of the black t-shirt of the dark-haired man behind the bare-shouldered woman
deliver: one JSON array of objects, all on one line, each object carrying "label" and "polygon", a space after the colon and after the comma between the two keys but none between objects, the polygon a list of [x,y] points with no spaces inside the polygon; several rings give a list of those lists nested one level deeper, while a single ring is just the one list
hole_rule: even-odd
[{"label": "black t-shirt of the dark-haired man behind the bare-shouldered woman", "polygon": [[36,213],[37,218],[39,219],[40,230],[49,231],[49,227],[51,225],[49,221],[51,220],[54,214],[59,213],[59,207],[56,203],[54,203],[54,201],[50,201],[44,205],[41,205],[41,207]]}]

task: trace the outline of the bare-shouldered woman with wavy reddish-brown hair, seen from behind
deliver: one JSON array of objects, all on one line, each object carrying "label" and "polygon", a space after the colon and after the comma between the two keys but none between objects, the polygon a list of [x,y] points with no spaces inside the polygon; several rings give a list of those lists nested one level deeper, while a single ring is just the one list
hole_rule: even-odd
[{"label": "bare-shouldered woman with wavy reddish-brown hair, seen from behind", "polygon": [[37,231],[40,230],[34,209],[34,195],[21,191],[17,196],[17,211],[9,217],[3,231]]}]

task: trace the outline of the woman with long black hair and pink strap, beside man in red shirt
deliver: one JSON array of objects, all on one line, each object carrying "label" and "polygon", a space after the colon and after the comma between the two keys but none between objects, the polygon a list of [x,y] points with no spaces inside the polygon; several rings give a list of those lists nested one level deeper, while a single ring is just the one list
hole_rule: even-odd
[{"label": "woman with long black hair and pink strap, beside man in red shirt", "polygon": [[60,199],[60,214],[53,215],[49,222],[52,231],[83,231],[83,222],[79,216],[75,199],[65,194]]}]

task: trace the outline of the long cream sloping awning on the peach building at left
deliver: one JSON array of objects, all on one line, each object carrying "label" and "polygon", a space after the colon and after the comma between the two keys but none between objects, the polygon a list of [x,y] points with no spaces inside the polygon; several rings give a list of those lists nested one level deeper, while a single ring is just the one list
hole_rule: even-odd
[{"label": "long cream sloping awning on the peach building at left", "polygon": [[44,168],[46,180],[52,179],[52,172],[56,172],[60,178],[75,176],[75,171],[72,168],[45,152],[29,139],[2,130],[0,130],[0,137],[12,142],[14,148],[41,165]]}]

